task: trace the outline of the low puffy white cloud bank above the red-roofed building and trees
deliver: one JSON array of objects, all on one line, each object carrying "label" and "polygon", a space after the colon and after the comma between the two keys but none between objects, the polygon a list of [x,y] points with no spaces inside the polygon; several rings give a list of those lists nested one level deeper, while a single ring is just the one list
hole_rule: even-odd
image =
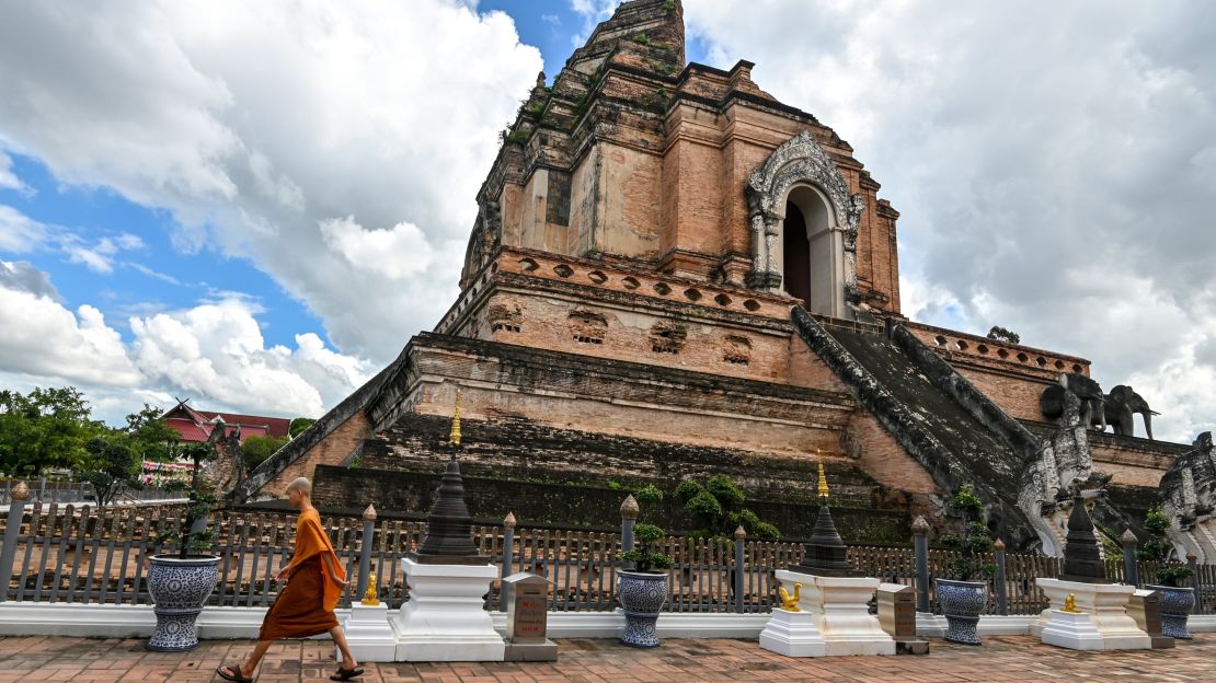
[{"label": "low puffy white cloud bank above the red-roofed building and trees", "polygon": [[135,315],[128,344],[97,309],[64,307],[46,273],[0,261],[0,380],[77,385],[117,423],[141,401],[164,405],[173,395],[213,410],[320,417],[371,377],[367,361],[313,333],[297,335],[295,349],[268,346],[257,312],[226,297]]}]

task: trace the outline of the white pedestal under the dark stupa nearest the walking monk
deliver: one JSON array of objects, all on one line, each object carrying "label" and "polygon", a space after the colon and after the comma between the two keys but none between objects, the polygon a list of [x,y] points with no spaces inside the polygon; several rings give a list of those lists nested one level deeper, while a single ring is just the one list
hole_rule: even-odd
[{"label": "white pedestal under the dark stupa nearest the walking monk", "polygon": [[393,621],[396,661],[502,661],[506,644],[483,597],[499,576],[492,564],[401,560],[410,600]]}]

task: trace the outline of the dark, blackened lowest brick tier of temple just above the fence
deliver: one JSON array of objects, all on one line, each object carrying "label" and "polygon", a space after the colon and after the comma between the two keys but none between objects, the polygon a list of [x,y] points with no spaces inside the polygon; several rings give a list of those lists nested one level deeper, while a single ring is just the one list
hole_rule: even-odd
[{"label": "dark, blackened lowest brick tier of temple just above the fence", "polygon": [[[440,474],[320,465],[313,502],[321,508],[358,508],[373,503],[379,510],[426,513],[434,504]],[[692,521],[670,496],[658,508],[647,508],[644,520],[670,534],[692,530]],[[469,514],[495,524],[514,514],[520,524],[558,524],[601,530],[620,527],[620,503],[626,490],[510,481],[465,476],[465,502]],[[761,519],[777,525],[787,540],[809,538],[818,508],[772,501],[748,501]],[[845,541],[852,543],[902,543],[910,537],[903,510],[833,507],[832,518]]]}]

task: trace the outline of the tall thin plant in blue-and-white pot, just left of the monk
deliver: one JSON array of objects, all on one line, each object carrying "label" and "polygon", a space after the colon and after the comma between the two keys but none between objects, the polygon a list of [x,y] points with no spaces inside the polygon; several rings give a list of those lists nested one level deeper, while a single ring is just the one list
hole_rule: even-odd
[{"label": "tall thin plant in blue-and-white pot, just left of the monk", "polygon": [[[199,478],[199,465],[214,459],[214,444],[196,444],[185,453],[193,461],[190,478],[190,502],[176,529],[158,541],[176,542],[178,552],[148,559],[148,593],[156,613],[156,631],[146,648],[161,653],[192,650],[198,647],[195,620],[203,603],[215,589],[220,558],[212,554],[212,531],[207,527],[215,496]],[[179,486],[180,487],[180,486]]]}]

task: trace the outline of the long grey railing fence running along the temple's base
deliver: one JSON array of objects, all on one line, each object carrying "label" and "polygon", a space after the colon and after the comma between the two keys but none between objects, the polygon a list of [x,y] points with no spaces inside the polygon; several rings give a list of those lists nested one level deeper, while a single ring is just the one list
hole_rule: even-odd
[{"label": "long grey railing fence running along the temple's base", "polygon": [[[147,559],[173,553],[176,546],[165,532],[181,523],[184,506],[95,506],[34,502],[13,506],[5,523],[0,551],[0,599],[49,603],[151,604],[147,592]],[[631,521],[631,520],[629,520]],[[275,571],[291,558],[295,517],[287,513],[215,512],[213,553],[219,559],[219,582],[208,604],[225,606],[269,605],[277,595]],[[401,558],[422,540],[426,524],[406,520],[325,518],[322,524],[347,568],[350,588],[342,605],[361,595],[371,572],[381,599],[390,608],[407,598]],[[479,551],[495,561],[501,574],[529,571],[552,581],[551,610],[604,611],[617,608],[619,553],[629,543],[631,529],[621,534],[474,526]],[[777,604],[778,569],[801,560],[796,543],[714,541],[668,537],[662,551],[672,557],[665,610],[682,613],[756,613]],[[931,611],[939,611],[933,592],[934,576],[945,575],[953,555],[927,549],[929,581],[917,580],[917,553],[908,547],[851,546],[849,561],[866,576],[916,586],[927,593]],[[1062,560],[1034,554],[997,552],[991,561],[1002,568],[1003,580],[993,582],[989,614],[1036,614],[1047,608],[1036,587],[1040,576],[1059,576]],[[1136,565],[1141,583],[1152,582],[1155,565]],[[1216,609],[1216,565],[1195,565],[1193,585],[1199,588],[1197,614]],[[1122,560],[1108,560],[1111,582],[1122,582]],[[5,580],[7,581],[5,582]],[[501,604],[496,581],[486,594],[486,606]]]}]

